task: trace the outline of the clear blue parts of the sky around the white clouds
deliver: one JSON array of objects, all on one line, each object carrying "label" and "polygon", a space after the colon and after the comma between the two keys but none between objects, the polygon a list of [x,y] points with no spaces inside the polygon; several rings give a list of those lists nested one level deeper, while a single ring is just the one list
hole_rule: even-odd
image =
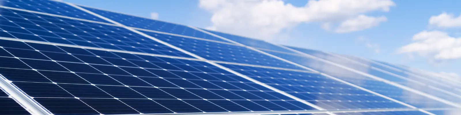
[{"label": "clear blue parts of the sky around the white clouds", "polygon": [[[65,0],[75,4],[92,6],[110,11],[118,11],[136,16],[150,17],[151,12],[159,14],[159,20],[181,23],[200,28],[213,26],[212,11],[199,6],[198,0]],[[390,0],[388,0],[390,1]],[[303,7],[308,0],[283,0],[284,4]],[[397,53],[399,48],[411,44],[414,35],[422,31],[441,31],[458,38],[459,28],[437,28],[429,24],[432,16],[443,12],[452,13],[454,17],[461,14],[460,0],[393,0],[395,5],[388,6],[389,11],[372,10],[360,15],[385,17],[386,20],[371,28],[337,33],[322,29],[322,23],[303,22],[282,29],[278,39],[267,39],[279,44],[311,48],[316,50],[366,57],[390,63],[401,63],[411,67],[433,72],[456,72],[461,74],[461,62],[458,57],[433,59],[433,55],[421,54],[426,51]],[[456,22],[456,21],[455,21]],[[217,29],[220,31],[220,29]],[[368,46],[367,46],[368,44]],[[377,51],[378,50],[378,51]],[[427,51],[429,52],[429,51]],[[437,51],[429,52],[437,53]],[[437,61],[431,61],[437,60]]]}]

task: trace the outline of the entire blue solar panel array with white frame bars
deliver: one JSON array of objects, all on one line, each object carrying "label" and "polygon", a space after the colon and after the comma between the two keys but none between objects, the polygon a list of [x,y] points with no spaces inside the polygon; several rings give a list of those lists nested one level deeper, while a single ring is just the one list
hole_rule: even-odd
[{"label": "entire blue solar panel array with white frame bars", "polygon": [[49,0],[2,0],[0,114],[443,115],[408,67]]}]

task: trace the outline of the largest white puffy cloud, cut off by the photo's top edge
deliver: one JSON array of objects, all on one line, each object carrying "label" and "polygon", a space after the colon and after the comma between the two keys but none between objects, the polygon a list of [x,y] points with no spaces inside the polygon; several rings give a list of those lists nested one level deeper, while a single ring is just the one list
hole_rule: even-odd
[{"label": "largest white puffy cloud, cut off by the photo's top edge", "polygon": [[[347,32],[371,28],[370,25],[376,26],[377,21],[371,21],[372,24],[349,25],[346,22],[353,22],[347,20],[367,12],[389,11],[391,6],[395,6],[392,0],[309,0],[301,7],[284,3],[283,0],[200,0],[199,2],[200,8],[213,14],[211,22],[214,29],[262,39],[271,38],[299,23],[320,23],[323,29],[330,30],[343,22],[349,29]],[[378,23],[383,20],[383,17],[375,18],[378,18]],[[363,17],[360,19],[363,20]]]}]

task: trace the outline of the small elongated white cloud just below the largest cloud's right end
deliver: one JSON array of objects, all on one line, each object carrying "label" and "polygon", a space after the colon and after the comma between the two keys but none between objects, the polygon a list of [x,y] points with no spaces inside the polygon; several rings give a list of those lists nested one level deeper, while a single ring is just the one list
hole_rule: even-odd
[{"label": "small elongated white cloud just below the largest cloud's right end", "polygon": [[365,15],[359,15],[357,17],[348,19],[337,27],[335,30],[337,33],[347,33],[353,31],[360,31],[364,29],[369,29],[374,26],[378,26],[379,23],[386,22],[387,18],[384,16],[381,17],[368,17]]}]

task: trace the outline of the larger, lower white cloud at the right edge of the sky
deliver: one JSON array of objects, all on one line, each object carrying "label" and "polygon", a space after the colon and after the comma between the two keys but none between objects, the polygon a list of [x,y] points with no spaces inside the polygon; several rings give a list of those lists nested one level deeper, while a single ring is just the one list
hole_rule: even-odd
[{"label": "larger, lower white cloud at the right edge of the sky", "polygon": [[461,38],[441,31],[422,31],[413,36],[413,43],[399,48],[398,53],[418,54],[431,59],[461,58]]}]

